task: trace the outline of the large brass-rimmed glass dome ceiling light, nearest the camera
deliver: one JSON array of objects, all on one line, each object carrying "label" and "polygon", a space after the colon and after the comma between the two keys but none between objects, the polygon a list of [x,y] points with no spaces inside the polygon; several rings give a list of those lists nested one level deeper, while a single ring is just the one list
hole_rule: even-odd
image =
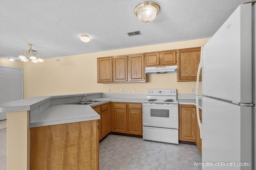
[{"label": "large brass-rimmed glass dome ceiling light, nearest the camera", "polygon": [[142,23],[150,23],[154,21],[159,10],[160,6],[156,2],[145,1],[135,7],[134,13]]}]

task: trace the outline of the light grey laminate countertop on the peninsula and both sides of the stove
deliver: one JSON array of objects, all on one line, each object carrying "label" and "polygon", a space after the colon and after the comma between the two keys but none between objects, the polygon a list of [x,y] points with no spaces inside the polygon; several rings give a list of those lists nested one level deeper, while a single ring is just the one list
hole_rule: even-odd
[{"label": "light grey laminate countertop on the peninsula and both sides of the stove", "polygon": [[[90,95],[101,95],[102,93],[86,93]],[[121,98],[118,98],[116,94],[113,96],[111,94],[104,94],[103,98],[93,98],[94,100],[104,100],[103,102],[93,103],[90,105],[76,105],[76,104],[64,104],[66,98],[79,97],[82,94],[68,94],[68,95],[58,95],[58,96],[38,96],[27,98],[23,100],[18,100],[14,102],[8,102],[6,104],[1,104],[0,112],[11,112],[11,111],[25,111],[25,110],[36,110],[40,105],[54,103],[53,106],[50,105],[48,108],[39,111],[38,115],[34,116],[30,120],[30,127],[40,127],[47,125],[56,125],[63,123],[72,123],[79,121],[90,121],[100,119],[100,115],[96,113],[92,106],[97,106],[100,104],[105,104],[108,102],[127,102],[127,103],[142,103],[146,98],[144,94],[120,94]],[[132,96],[134,95],[134,98]],[[123,96],[123,98],[122,98]],[[141,98],[142,97],[142,98]],[[62,104],[56,104],[56,101],[52,102],[50,100],[57,99],[62,102]],[[64,102],[64,103],[63,103]],[[184,100],[178,99],[179,104],[192,104],[196,105],[196,100]],[[57,101],[58,103],[58,101]],[[68,102],[66,102],[68,103]],[[202,108],[202,102],[199,100],[199,108]],[[32,112],[34,113],[34,112]]]}]

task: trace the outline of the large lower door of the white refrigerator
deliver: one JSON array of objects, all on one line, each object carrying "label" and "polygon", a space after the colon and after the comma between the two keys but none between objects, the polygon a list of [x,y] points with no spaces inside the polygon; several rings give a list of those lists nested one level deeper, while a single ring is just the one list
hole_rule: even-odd
[{"label": "large lower door of the white refrigerator", "polygon": [[207,97],[202,98],[202,107],[202,169],[252,170],[252,165],[236,166],[252,162],[252,107]]}]

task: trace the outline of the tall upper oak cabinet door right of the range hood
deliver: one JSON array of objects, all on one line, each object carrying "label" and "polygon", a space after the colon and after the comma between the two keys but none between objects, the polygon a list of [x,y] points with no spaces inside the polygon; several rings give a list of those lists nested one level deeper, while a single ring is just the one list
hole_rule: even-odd
[{"label": "tall upper oak cabinet door right of the range hood", "polygon": [[201,47],[178,50],[178,81],[196,81],[200,54]]}]

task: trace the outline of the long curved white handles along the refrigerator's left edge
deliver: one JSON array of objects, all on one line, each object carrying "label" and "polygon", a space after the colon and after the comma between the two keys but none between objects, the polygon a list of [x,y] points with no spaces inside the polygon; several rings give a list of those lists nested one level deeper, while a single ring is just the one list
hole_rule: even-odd
[{"label": "long curved white handles along the refrigerator's left edge", "polygon": [[200,129],[200,138],[201,139],[203,139],[203,124],[200,122],[198,98],[202,98],[202,94],[198,93],[198,86],[199,86],[200,70],[203,67],[203,51],[204,51],[204,47],[201,47],[200,63],[198,66],[197,76],[196,76],[196,117],[197,117],[199,129]]}]

